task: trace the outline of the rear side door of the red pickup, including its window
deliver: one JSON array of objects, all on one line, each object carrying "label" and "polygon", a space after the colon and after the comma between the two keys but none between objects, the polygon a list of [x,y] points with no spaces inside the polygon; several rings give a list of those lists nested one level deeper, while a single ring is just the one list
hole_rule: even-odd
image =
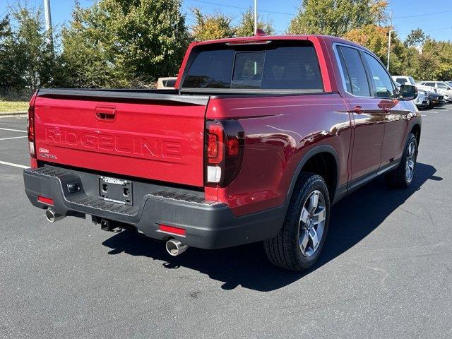
[{"label": "rear side door of the red pickup, including its window", "polygon": [[379,100],[373,97],[371,85],[359,50],[336,45],[341,73],[345,85],[345,97],[353,115],[352,128],[352,181],[376,171],[381,164],[381,146],[384,135],[384,112]]}]

